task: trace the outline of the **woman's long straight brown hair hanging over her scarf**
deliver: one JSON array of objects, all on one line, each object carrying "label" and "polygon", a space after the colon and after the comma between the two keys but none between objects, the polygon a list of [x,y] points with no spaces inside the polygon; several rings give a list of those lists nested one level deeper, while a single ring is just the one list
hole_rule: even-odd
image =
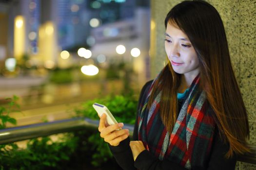
[{"label": "woman's long straight brown hair hanging over her scarf", "polygon": [[[200,87],[215,112],[219,134],[229,143],[227,157],[233,153],[249,152],[249,123],[245,105],[232,68],[228,42],[217,10],[203,0],[185,0],[173,7],[165,18],[177,24],[192,43],[199,60]],[[159,83],[161,81],[161,83]],[[170,61],[163,68],[149,99],[151,106],[156,93],[162,91],[160,116],[172,132],[178,115],[177,89],[180,75]]]}]

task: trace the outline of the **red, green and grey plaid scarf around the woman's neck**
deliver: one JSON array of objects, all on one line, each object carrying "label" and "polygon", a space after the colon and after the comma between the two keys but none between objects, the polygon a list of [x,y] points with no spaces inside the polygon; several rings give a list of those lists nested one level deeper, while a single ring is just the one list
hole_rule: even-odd
[{"label": "red, green and grey plaid scarf around the woman's neck", "polygon": [[189,87],[171,134],[159,114],[161,91],[155,95],[151,107],[147,108],[156,79],[139,108],[138,140],[142,140],[145,148],[159,160],[168,159],[189,170],[205,169],[216,124],[206,94],[199,90],[199,75]]}]

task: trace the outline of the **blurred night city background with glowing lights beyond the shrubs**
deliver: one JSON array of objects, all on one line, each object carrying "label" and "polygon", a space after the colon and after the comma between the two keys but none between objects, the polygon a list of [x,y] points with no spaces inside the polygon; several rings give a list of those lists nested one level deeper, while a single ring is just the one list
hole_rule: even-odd
[{"label": "blurred night city background with glowing lights beyond the shrubs", "polygon": [[109,94],[138,96],[149,42],[150,0],[0,0],[0,105],[18,96],[12,117],[25,125]]}]

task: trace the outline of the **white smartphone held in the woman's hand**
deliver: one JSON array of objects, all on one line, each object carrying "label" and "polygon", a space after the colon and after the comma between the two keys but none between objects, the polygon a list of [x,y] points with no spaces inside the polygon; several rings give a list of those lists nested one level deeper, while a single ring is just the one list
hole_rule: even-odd
[{"label": "white smartphone held in the woman's hand", "polygon": [[117,124],[117,120],[114,118],[114,116],[111,114],[111,112],[108,110],[108,108],[105,105],[94,103],[93,104],[94,109],[98,113],[98,115],[101,117],[103,113],[107,115],[107,123],[109,125]]}]

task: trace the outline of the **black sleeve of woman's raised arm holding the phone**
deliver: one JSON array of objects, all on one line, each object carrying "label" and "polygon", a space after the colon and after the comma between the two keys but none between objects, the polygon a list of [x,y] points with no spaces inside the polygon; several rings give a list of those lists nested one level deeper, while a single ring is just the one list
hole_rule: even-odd
[{"label": "black sleeve of woman's raised arm holding the phone", "polygon": [[[145,96],[147,94],[148,89],[150,88],[152,81],[147,82],[141,89],[139,101],[138,101],[138,107],[137,107],[137,116],[136,116],[136,123],[134,127],[134,133],[133,138],[134,140],[138,140],[138,108],[140,104],[142,104],[143,101],[145,101]],[[130,137],[120,142],[118,146],[111,146],[109,145],[110,151],[115,157],[118,165],[123,170],[137,170],[134,167],[134,160],[133,160],[133,153],[130,148]]]}]

